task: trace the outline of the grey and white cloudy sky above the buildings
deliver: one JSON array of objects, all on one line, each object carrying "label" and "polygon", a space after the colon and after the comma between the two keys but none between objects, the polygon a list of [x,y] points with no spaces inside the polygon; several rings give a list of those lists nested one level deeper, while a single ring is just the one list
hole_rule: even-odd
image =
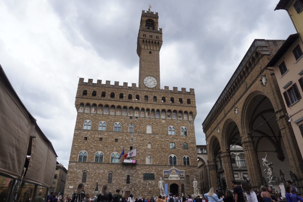
[{"label": "grey and white cloudy sky above the buildings", "polygon": [[278,0],[0,0],[0,64],[68,167],[78,77],[138,84],[142,10],[163,29],[161,88],[195,89],[197,144],[202,122],[252,41],[295,33]]}]

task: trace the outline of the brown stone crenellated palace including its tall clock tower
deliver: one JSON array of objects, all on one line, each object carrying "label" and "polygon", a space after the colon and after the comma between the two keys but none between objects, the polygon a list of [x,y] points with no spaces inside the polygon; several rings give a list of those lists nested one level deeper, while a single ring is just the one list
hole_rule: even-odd
[{"label": "brown stone crenellated palace including its tall clock tower", "polygon": [[[108,184],[112,192],[118,188],[126,197],[157,196],[160,177],[168,192],[194,193],[193,180],[199,180],[195,92],[160,88],[161,45],[158,13],[142,11],[138,87],[79,79],[65,195],[71,195],[82,182],[90,194]],[[123,149],[125,154],[136,149],[134,161],[125,163],[120,158]]]}]

